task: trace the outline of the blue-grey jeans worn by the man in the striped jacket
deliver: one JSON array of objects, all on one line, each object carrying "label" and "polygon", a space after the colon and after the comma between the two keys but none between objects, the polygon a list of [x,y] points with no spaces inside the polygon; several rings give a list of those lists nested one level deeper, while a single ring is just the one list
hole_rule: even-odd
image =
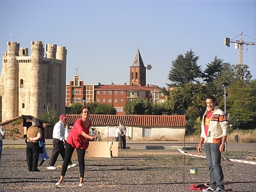
[{"label": "blue-grey jeans worn by the man in the striped jacket", "polygon": [[210,186],[212,189],[224,189],[220,143],[205,143],[204,149],[210,171]]}]

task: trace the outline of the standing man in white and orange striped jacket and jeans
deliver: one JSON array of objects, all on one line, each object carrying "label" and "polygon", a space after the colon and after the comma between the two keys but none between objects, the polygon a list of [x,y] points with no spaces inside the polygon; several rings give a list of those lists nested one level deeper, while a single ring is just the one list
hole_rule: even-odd
[{"label": "standing man in white and orange striped jacket and jeans", "polygon": [[223,171],[221,168],[221,153],[225,151],[228,133],[227,115],[219,109],[217,100],[209,95],[206,98],[207,109],[202,120],[202,132],[198,152],[202,152],[204,144],[207,165],[210,171],[210,186],[203,191],[225,191]]}]

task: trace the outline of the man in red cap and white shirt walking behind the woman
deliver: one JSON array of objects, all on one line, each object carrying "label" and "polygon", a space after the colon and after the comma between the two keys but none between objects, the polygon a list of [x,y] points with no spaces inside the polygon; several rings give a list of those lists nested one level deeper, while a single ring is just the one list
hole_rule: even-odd
[{"label": "man in red cap and white shirt walking behind the woman", "polygon": [[[65,159],[65,122],[66,122],[67,116],[60,115],[60,121],[54,125],[53,132],[52,132],[52,156],[49,161],[49,166],[47,169],[49,170],[55,170],[56,166],[54,164],[56,163],[59,154],[61,155],[63,161]],[[76,164],[70,164],[69,168],[72,168],[76,166]]]}]

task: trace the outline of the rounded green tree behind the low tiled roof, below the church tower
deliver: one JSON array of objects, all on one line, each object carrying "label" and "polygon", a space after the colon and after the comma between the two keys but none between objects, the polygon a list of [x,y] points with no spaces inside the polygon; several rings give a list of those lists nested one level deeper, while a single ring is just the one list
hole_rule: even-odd
[{"label": "rounded green tree behind the low tiled roof, below the church tower", "polygon": [[147,99],[133,99],[125,104],[127,115],[152,115],[151,102]]}]

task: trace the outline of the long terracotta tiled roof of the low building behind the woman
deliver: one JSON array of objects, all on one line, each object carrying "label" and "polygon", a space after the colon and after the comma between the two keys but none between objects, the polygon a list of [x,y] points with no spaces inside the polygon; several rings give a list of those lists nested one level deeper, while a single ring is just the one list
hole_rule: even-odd
[{"label": "long terracotta tiled roof of the low building behind the woman", "polygon": [[[67,115],[67,124],[73,125],[81,115]],[[164,126],[184,127],[184,115],[90,115],[92,125],[117,125],[122,122],[127,126]]]}]

